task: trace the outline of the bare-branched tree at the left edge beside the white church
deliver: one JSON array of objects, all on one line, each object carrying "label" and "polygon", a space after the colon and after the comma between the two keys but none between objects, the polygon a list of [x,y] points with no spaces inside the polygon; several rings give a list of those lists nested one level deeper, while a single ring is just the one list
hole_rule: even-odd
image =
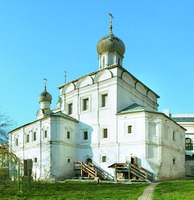
[{"label": "bare-branched tree at the left edge beside the white church", "polygon": [[5,114],[0,114],[0,145],[8,142],[8,132],[13,126],[13,120]]}]

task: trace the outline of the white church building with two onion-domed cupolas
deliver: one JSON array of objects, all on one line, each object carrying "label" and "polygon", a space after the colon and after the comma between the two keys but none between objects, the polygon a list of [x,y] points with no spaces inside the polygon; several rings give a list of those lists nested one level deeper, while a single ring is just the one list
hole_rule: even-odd
[{"label": "white church building with two onion-domed cupolas", "polygon": [[159,96],[122,66],[125,45],[112,21],[97,53],[99,69],[59,86],[54,110],[45,83],[37,119],[9,133],[12,151],[31,159],[40,179],[73,178],[78,161],[115,178],[110,166],[132,158],[154,180],[184,177],[186,129],[159,112]]}]

